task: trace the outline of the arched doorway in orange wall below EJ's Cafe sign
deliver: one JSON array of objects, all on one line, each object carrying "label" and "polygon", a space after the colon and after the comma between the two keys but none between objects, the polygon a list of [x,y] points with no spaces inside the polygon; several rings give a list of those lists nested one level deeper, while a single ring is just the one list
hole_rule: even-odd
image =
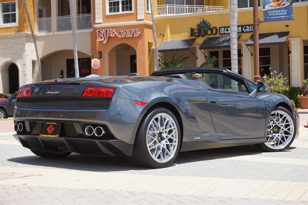
[{"label": "arched doorway in orange wall below EJ's Cafe sign", "polygon": [[114,75],[127,75],[137,72],[137,55],[136,50],[132,46],[121,43],[115,46],[110,53],[113,55]]}]

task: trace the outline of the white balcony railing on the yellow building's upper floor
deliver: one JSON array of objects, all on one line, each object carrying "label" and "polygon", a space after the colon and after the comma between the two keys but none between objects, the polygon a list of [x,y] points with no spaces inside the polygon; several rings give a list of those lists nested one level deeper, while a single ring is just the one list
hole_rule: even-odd
[{"label": "white balcony railing on the yellow building's upper floor", "polygon": [[225,6],[191,6],[191,5],[158,5],[156,6],[156,15],[178,15],[205,13],[209,11],[225,10]]}]

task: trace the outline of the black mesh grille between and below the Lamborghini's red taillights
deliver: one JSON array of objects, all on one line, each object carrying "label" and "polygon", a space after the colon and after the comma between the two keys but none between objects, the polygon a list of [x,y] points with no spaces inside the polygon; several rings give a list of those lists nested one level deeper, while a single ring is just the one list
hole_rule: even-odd
[{"label": "black mesh grille between and below the Lamborghini's red taillights", "polygon": [[112,98],[79,96],[19,97],[16,107],[47,109],[108,109]]}]

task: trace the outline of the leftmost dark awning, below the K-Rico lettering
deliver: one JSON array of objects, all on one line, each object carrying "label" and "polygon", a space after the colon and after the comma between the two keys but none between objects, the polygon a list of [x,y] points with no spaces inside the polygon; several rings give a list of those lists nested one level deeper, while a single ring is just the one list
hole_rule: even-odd
[{"label": "leftmost dark awning, below the K-Rico lettering", "polygon": [[158,52],[189,50],[196,38],[163,41],[158,46]]}]

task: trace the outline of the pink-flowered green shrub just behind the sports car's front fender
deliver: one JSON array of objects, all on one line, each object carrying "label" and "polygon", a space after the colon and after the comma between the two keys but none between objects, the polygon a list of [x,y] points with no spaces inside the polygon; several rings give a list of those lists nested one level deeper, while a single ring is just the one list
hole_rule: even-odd
[{"label": "pink-flowered green shrub just behind the sports car's front fender", "polygon": [[[271,68],[270,68],[271,69]],[[282,73],[277,74],[277,71],[271,72],[270,75],[264,75],[261,79],[261,82],[264,82],[269,86],[270,92],[281,93],[284,86],[288,84],[288,78],[284,78]]]}]

